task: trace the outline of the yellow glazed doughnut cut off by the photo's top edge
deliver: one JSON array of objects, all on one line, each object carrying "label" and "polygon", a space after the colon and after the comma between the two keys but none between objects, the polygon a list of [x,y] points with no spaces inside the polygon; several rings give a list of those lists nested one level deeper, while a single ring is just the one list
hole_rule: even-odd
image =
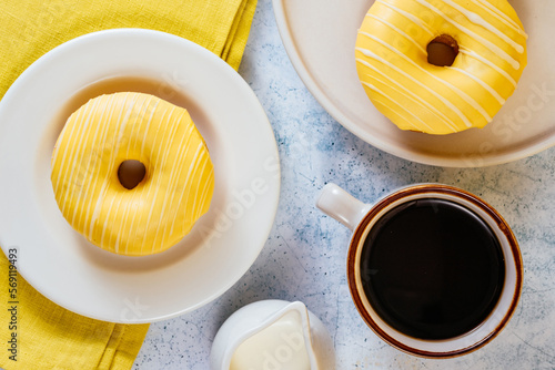
[{"label": "yellow glazed doughnut cut off by the photo's top edge", "polygon": [[[485,126],[513,94],[526,39],[506,0],[376,0],[359,30],[356,69],[400,129],[455,133]],[[436,41],[456,54],[451,66],[428,63]]]}]

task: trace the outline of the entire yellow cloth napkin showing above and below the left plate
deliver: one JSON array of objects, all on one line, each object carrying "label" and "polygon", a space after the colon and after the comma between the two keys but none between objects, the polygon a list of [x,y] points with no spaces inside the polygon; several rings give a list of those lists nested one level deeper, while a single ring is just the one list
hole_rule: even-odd
[{"label": "entire yellow cloth napkin showing above and below the left plate", "polygon": [[[173,33],[203,45],[238,69],[255,7],[256,0],[2,0],[0,97],[49,50],[75,37],[114,28]],[[10,304],[14,300],[9,290],[9,266],[6,256],[0,254],[0,341],[3,343],[0,368],[132,367],[148,325],[119,325],[81,317],[49,301],[19,275],[17,304]],[[10,325],[13,319],[17,328]],[[17,361],[10,359],[13,354]]]}]

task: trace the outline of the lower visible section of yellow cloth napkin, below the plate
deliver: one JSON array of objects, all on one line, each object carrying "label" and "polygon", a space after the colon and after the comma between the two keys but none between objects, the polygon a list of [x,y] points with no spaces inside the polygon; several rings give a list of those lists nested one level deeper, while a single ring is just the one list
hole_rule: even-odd
[{"label": "lower visible section of yellow cloth napkin, below the plate", "polygon": [[10,263],[0,255],[1,368],[132,367],[149,325],[104,322],[68,311],[41,296],[13,269],[10,274]]}]

